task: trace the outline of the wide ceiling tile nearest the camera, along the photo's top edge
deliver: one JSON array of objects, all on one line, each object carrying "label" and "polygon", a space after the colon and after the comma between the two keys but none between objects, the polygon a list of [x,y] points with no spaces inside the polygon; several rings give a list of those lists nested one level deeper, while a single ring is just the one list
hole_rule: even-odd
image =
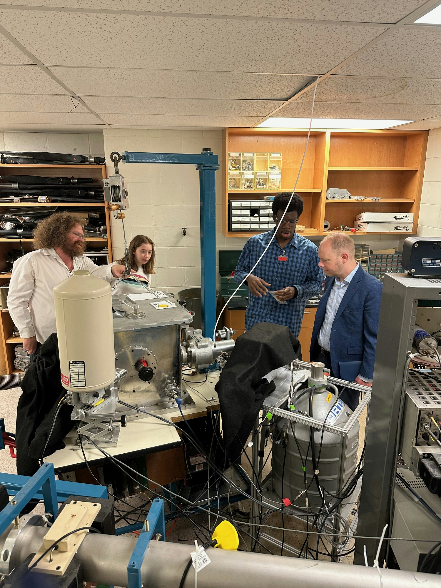
[{"label": "wide ceiling tile nearest the camera, along the photo's top edge", "polygon": [[[185,14],[271,16],[330,21],[397,22],[423,5],[425,0],[125,0],[125,10]],[[121,0],[9,0],[15,6],[56,6],[120,10]]]}]

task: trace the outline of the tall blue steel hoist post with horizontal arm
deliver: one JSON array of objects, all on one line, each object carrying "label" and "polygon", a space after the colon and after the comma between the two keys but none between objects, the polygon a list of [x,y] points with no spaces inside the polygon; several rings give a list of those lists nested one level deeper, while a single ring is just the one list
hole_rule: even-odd
[{"label": "tall blue steel hoist post with horizontal arm", "polygon": [[201,204],[201,316],[202,333],[213,337],[216,325],[216,170],[218,156],[202,153],[136,153],[124,151],[124,163],[195,165],[199,171]]}]

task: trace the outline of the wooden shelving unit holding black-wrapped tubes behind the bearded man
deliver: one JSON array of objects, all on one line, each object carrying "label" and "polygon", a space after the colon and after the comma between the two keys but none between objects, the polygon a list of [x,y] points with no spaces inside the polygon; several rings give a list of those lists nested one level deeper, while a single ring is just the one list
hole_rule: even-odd
[{"label": "wooden shelving unit holding black-wrapped tubes behind the bearded man", "polygon": [[[12,165],[12,164],[0,164],[0,176],[8,175],[34,175],[34,176],[46,176],[56,178],[59,176],[75,176],[76,178],[93,178],[94,183],[100,183],[102,185],[103,178],[106,178],[106,166],[105,165]],[[110,215],[106,211],[105,203],[0,203],[0,215],[6,213],[9,209],[23,209],[23,213],[26,213],[26,209],[29,208],[54,208],[58,211],[87,211],[89,209],[102,209],[106,214],[106,224],[108,226],[108,238],[101,239],[95,237],[87,237],[86,241],[88,245],[93,248],[107,248],[109,250],[109,262],[112,261],[112,243],[111,243],[111,232],[110,232]],[[0,272],[10,269],[7,259],[8,252],[12,249],[17,249],[17,243],[20,243],[26,253],[33,250],[34,239],[5,239],[0,238]],[[11,272],[0,273],[0,286],[5,285],[11,279]],[[14,373],[18,370],[15,369],[14,359],[16,345],[19,345],[23,340],[19,337],[12,337],[12,330],[14,323],[12,322],[11,316],[7,309],[3,309],[0,312],[0,373]]]}]

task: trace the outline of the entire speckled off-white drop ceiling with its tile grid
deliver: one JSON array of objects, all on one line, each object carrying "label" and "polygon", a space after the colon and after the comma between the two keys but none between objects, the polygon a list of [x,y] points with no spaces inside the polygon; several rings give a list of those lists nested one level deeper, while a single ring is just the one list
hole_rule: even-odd
[{"label": "entire speckled off-white drop ceiling with its tile grid", "polygon": [[[108,125],[197,128],[254,125],[295,95],[312,75],[329,71],[386,31],[382,23],[393,24],[427,5],[421,0],[332,4],[326,0],[243,0],[240,4],[219,0],[216,6],[203,0],[127,0],[121,11],[119,0],[12,0],[8,4],[12,8],[0,5],[0,24]],[[36,4],[39,9],[32,9]],[[83,12],[69,12],[70,6]],[[109,10],[122,14],[106,14]],[[130,10],[163,15],[124,14]],[[184,13],[202,16],[191,18]],[[221,15],[238,18],[222,19]],[[264,19],[251,22],[242,16]],[[320,19],[322,23],[268,18]],[[323,19],[341,22],[323,24]],[[395,49],[390,43],[394,38],[399,39]],[[396,29],[319,84],[315,116],[427,119],[427,125],[435,124],[441,118],[441,106],[433,104],[434,96],[440,95],[441,79],[424,78],[429,74],[440,78],[439,68],[430,63],[432,59],[441,62],[440,38],[437,29]],[[115,62],[114,54],[123,58]],[[382,60],[387,58],[399,63],[399,71],[383,68]],[[420,61],[423,71],[415,74]],[[0,78],[5,79],[0,86],[1,125],[27,122],[61,127],[85,125],[87,119],[94,128],[103,126],[82,105],[70,113],[66,89],[37,66],[18,65],[31,62],[1,35],[0,62],[14,64],[0,65]],[[300,96],[276,116],[309,116],[311,96],[312,92]]]}]

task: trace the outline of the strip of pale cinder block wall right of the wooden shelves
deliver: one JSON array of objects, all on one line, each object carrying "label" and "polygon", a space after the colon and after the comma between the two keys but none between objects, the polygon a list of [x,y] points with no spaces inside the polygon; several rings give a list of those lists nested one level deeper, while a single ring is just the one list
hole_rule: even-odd
[{"label": "strip of pale cinder block wall right of the wooden shelves", "polygon": [[441,129],[429,132],[418,235],[441,237]]}]

